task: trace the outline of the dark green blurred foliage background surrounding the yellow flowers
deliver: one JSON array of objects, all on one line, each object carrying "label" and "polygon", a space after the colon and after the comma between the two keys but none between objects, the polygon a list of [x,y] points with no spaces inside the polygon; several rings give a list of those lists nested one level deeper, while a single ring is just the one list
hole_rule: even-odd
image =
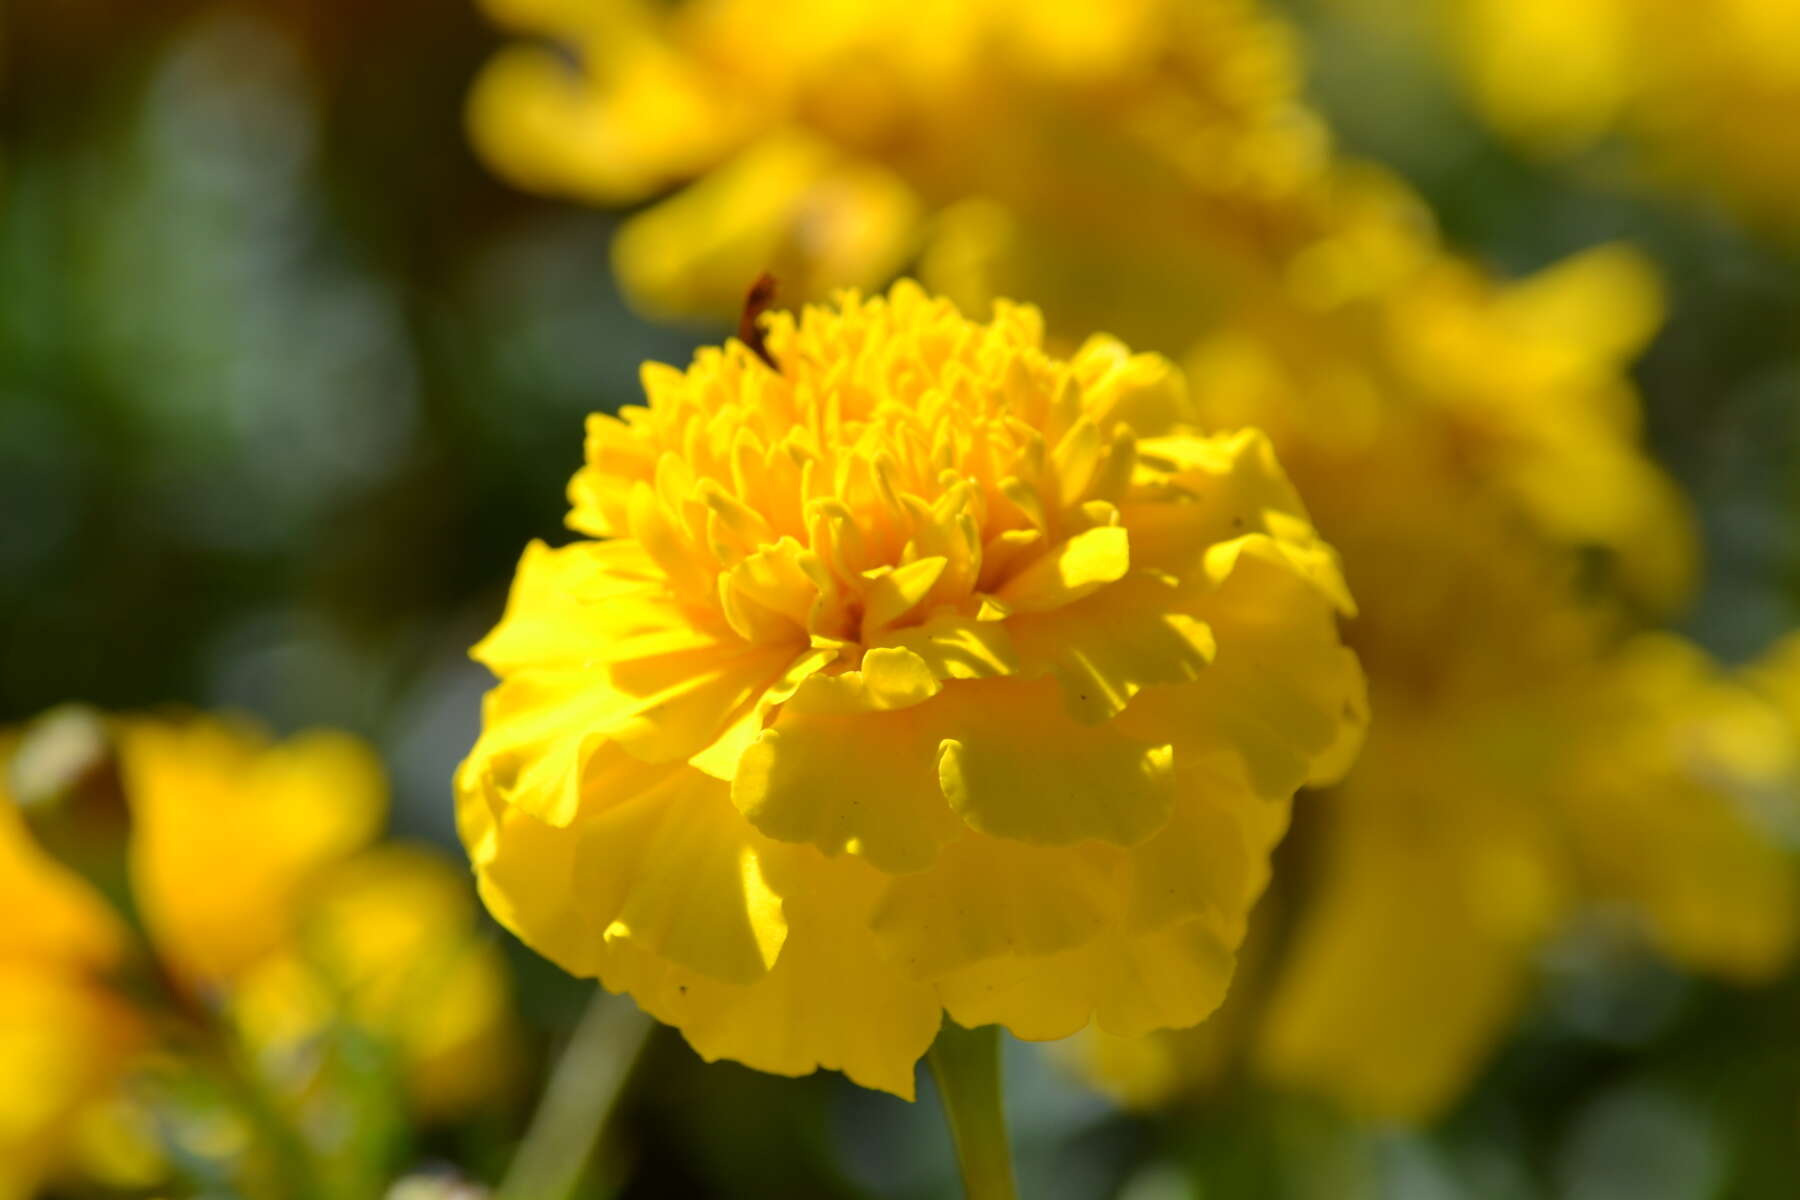
[{"label": "dark green blurred foliage background surrounding the yellow flowers", "polygon": [[[1674,628],[1750,660],[1800,624],[1800,200],[1784,227],[1640,185],[1613,142],[1505,137],[1417,9],[1282,9],[1310,101],[1501,275],[1615,239],[1654,259],[1669,317],[1633,374],[1705,547]],[[448,779],[490,682],[466,648],[520,547],[556,536],[583,416],[727,326],[621,299],[628,209],[527,196],[477,162],[466,99],[506,38],[470,4],[0,13],[0,723],[79,698],[351,729],[391,770],[396,829],[454,846]],[[587,986],[490,936],[547,1061]],[[1026,1195],[1800,1195],[1800,977],[1742,990],[1555,946],[1544,981],[1431,1128],[1251,1085],[1132,1114],[1013,1047]],[[513,1108],[401,1166],[491,1180],[529,1103]],[[594,1195],[954,1187],[929,1097],[706,1067],[673,1034],[612,1142]]]}]

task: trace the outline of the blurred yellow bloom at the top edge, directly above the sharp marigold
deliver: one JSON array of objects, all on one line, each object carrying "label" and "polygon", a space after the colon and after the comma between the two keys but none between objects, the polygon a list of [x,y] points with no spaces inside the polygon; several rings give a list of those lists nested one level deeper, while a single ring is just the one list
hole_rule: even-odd
[{"label": "blurred yellow bloom at the top edge, directly above the sharp marigold", "polygon": [[[605,205],[693,184],[614,246],[626,293],[657,313],[729,311],[761,270],[799,299],[884,284],[952,236],[936,210],[970,194],[1116,227],[1136,184],[1109,144],[1121,133],[1166,144],[1159,169],[1204,176],[1220,205],[1291,187],[1323,148],[1285,27],[1246,0],[488,9],[554,40],[502,50],[470,97],[500,175]],[[1141,216],[1159,230],[1193,205]],[[1150,239],[1134,250],[1161,261]]]}]

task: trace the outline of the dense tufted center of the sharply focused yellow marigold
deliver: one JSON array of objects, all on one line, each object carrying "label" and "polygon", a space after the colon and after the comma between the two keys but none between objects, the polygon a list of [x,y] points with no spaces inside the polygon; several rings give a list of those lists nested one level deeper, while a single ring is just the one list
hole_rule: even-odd
[{"label": "dense tufted center of the sharply focused yellow marigold", "polygon": [[574,527],[637,542],[700,619],[851,662],[945,606],[997,621],[1125,574],[1136,428],[1179,403],[1161,360],[1051,360],[1035,311],[976,326],[911,290],[772,326],[779,371],[706,351],[594,417]]}]

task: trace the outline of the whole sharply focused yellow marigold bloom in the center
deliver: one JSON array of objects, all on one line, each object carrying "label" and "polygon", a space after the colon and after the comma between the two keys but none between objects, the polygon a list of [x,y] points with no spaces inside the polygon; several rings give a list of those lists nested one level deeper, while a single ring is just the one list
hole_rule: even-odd
[{"label": "whole sharply focused yellow marigold bloom in the center", "polygon": [[902,282],[644,367],[533,543],[457,774],[481,891],[707,1058],[913,1092],[943,1013],[1224,995],[1361,675],[1332,551],[1161,358]]}]

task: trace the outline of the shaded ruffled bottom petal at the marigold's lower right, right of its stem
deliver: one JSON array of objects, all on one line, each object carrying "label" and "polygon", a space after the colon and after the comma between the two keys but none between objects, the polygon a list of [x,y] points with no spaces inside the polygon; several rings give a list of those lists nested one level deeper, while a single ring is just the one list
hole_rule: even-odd
[{"label": "shaded ruffled bottom petal at the marigold's lower right, right of its stem", "polygon": [[1130,1036],[1204,1020],[1287,804],[1258,799],[1235,761],[1192,765],[1175,784],[1163,831],[1130,851],[958,842],[887,889],[875,930],[965,1025],[1049,1040],[1091,1018]]}]

